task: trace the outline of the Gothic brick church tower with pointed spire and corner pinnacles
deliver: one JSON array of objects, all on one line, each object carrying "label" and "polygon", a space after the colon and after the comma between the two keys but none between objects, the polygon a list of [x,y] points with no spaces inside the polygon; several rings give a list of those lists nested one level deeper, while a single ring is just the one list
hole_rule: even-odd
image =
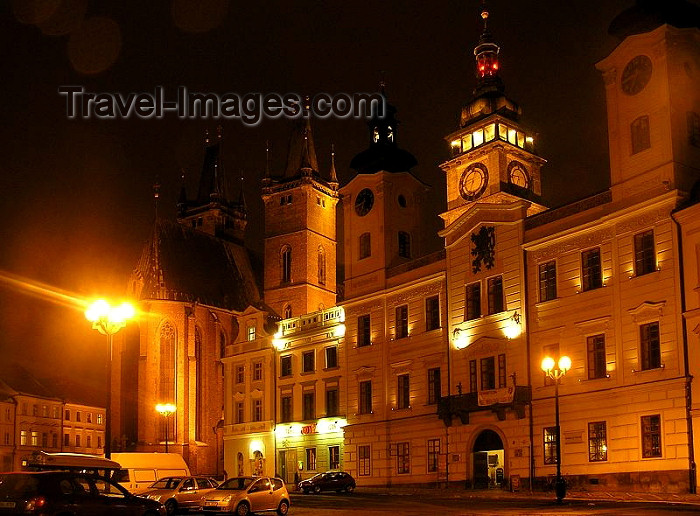
[{"label": "Gothic brick church tower with pointed spire and corner pinnacles", "polygon": [[319,171],[311,120],[295,122],[283,174],[266,170],[265,303],[287,319],[336,304],[338,179]]}]

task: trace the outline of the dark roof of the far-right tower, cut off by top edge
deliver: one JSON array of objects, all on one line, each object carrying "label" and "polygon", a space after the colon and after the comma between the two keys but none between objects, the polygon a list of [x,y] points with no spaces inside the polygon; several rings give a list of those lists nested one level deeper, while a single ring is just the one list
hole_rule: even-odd
[{"label": "dark roof of the far-right tower, cut off by top edge", "polygon": [[680,29],[700,27],[700,6],[686,0],[637,0],[634,6],[615,17],[608,32],[625,39],[666,23]]}]

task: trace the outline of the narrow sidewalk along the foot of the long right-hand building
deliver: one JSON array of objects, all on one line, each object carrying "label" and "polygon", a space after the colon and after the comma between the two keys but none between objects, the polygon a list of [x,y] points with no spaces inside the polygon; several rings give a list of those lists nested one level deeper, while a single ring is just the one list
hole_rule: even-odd
[{"label": "narrow sidewalk along the foot of the long right-hand building", "polygon": [[[533,491],[527,489],[517,492],[510,492],[502,489],[458,489],[449,488],[422,488],[422,487],[358,487],[358,491],[374,493],[387,496],[421,496],[421,494],[440,493],[445,498],[463,499],[540,499],[553,500],[554,491]],[[688,493],[642,493],[642,492],[617,492],[617,491],[578,491],[571,490],[566,493],[566,498],[570,500],[605,500],[620,502],[663,502],[663,503],[683,503],[700,506],[700,495]]]}]

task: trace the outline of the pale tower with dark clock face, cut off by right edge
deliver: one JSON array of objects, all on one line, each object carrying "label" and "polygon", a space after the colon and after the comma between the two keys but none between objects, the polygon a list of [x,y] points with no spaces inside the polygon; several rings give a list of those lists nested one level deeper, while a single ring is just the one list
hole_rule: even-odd
[{"label": "pale tower with dark clock face, cut off by right edge", "polygon": [[664,190],[689,192],[700,179],[698,7],[638,0],[610,25],[622,40],[598,63],[608,110],[613,200]]}]

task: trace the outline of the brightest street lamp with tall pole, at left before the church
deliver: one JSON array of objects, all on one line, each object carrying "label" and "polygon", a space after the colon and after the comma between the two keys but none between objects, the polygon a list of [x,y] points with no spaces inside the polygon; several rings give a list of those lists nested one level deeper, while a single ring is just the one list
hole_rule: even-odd
[{"label": "brightest street lamp with tall pole, at left before the church", "polygon": [[127,302],[111,306],[104,299],[98,299],[85,310],[85,318],[92,323],[92,329],[107,335],[109,339],[109,360],[107,361],[107,406],[105,407],[105,457],[112,457],[112,347],[114,334],[121,330],[135,314],[134,307]]}]

